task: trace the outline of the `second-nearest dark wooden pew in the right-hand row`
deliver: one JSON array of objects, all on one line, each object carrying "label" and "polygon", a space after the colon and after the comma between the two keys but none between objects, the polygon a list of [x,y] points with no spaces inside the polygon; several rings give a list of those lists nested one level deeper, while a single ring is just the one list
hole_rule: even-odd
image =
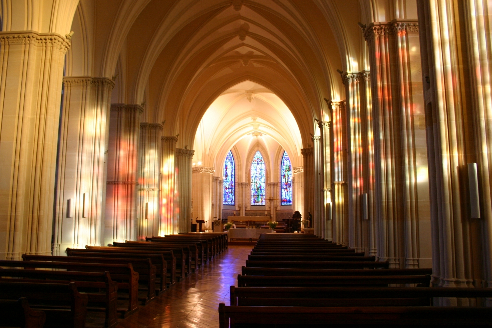
[{"label": "second-nearest dark wooden pew in the right-hand row", "polygon": [[[438,297],[490,296],[492,288],[230,287],[231,305],[248,306],[414,306],[415,300],[422,299],[426,299],[426,304],[419,306],[431,306],[432,299]],[[407,304],[406,300],[411,302]]]}]

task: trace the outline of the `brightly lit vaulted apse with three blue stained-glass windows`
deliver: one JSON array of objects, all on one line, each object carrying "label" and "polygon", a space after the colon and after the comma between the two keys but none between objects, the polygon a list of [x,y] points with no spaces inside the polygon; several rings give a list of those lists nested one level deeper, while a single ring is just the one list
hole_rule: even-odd
[{"label": "brightly lit vaulted apse with three blue stained-glass windows", "polygon": [[[302,211],[301,133],[290,109],[270,89],[244,81],[223,91],[203,115],[193,149],[194,220],[211,228],[213,220],[229,214],[280,219]],[[253,201],[255,195],[261,201]]]}]

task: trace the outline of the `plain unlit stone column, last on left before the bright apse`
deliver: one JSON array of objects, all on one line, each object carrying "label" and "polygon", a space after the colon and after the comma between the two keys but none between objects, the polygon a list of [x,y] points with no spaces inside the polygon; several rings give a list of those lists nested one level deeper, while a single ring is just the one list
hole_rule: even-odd
[{"label": "plain unlit stone column, last on left before the bright apse", "polygon": [[187,233],[191,230],[191,161],[194,152],[192,149],[176,148],[175,233]]}]

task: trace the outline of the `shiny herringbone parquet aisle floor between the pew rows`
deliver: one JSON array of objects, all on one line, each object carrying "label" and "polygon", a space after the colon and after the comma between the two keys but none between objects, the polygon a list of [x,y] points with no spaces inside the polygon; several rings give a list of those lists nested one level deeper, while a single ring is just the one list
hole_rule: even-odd
[{"label": "shiny herringbone parquet aisle floor between the pew rows", "polygon": [[120,322],[117,328],[215,328],[218,303],[230,304],[251,246],[229,246],[204,267],[176,283],[156,300]]}]

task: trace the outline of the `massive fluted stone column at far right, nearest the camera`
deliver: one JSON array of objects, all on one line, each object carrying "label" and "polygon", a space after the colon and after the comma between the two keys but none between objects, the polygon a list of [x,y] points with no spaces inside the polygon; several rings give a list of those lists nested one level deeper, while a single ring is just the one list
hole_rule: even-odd
[{"label": "massive fluted stone column at far right, nearest the camera", "polygon": [[[431,193],[432,283],[492,285],[491,18],[487,1],[418,1]],[[476,163],[472,216],[468,163]],[[468,305],[445,298],[439,305]]]}]

